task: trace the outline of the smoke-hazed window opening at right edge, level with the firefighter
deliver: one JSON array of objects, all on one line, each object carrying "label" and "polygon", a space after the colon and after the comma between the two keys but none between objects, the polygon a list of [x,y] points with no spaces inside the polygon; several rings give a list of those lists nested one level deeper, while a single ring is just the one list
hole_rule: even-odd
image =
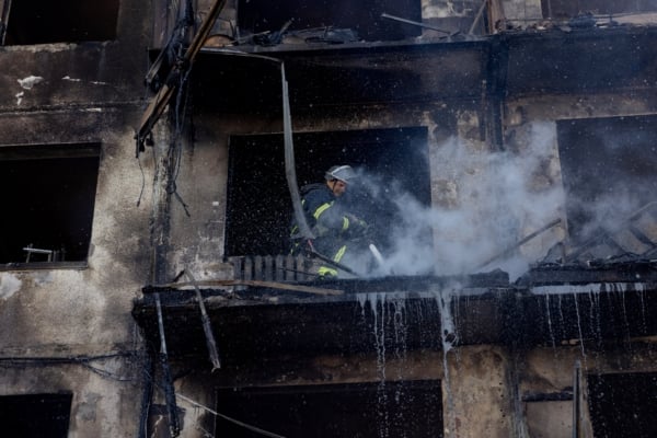
[{"label": "smoke-hazed window opening at right edge, level with the firefighter", "polygon": [[656,116],[562,120],[557,136],[568,230],[576,241],[623,229],[657,200]]}]

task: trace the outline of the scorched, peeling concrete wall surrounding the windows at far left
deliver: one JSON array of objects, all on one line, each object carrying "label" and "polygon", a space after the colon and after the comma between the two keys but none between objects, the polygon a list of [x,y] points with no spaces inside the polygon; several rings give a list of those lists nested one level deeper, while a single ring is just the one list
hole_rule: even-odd
[{"label": "scorched, peeling concrete wall surrounding the windows at far left", "polygon": [[72,393],[69,437],[139,427],[143,355],[130,310],[150,278],[153,168],[148,153],[135,159],[134,129],[149,16],[148,2],[125,0],[115,41],[0,47],[0,148],[101,145],[88,267],[0,270],[0,395]]}]

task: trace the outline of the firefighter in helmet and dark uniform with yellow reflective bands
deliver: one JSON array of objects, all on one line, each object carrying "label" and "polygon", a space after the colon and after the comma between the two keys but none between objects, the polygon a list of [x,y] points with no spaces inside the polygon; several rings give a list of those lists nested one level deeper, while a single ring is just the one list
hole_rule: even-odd
[{"label": "firefighter in helmet and dark uniform with yellow reflective bands", "polygon": [[[342,264],[356,241],[368,232],[362,219],[346,211],[338,198],[345,194],[356,173],[349,165],[334,165],[324,175],[323,183],[301,187],[301,205],[308,227],[314,234],[309,243],[298,238],[299,227],[291,230],[292,254],[298,254],[304,244],[311,244],[318,253]],[[335,266],[326,264],[318,269],[320,278],[337,277]]]}]

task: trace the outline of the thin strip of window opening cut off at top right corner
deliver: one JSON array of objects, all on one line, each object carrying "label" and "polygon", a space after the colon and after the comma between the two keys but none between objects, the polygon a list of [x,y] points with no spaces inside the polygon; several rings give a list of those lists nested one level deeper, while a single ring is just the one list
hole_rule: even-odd
[{"label": "thin strip of window opening cut off at top right corner", "polygon": [[569,19],[585,13],[593,15],[657,11],[657,0],[541,0],[544,18]]}]

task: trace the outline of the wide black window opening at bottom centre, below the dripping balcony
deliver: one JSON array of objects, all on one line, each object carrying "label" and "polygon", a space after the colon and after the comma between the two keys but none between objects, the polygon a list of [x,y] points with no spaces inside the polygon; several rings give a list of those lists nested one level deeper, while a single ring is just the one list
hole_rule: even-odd
[{"label": "wide black window opening at bottom centre, below the dripping balcony", "polygon": [[[439,380],[222,389],[217,412],[288,438],[442,437]],[[217,417],[217,436],[260,437]]]}]

